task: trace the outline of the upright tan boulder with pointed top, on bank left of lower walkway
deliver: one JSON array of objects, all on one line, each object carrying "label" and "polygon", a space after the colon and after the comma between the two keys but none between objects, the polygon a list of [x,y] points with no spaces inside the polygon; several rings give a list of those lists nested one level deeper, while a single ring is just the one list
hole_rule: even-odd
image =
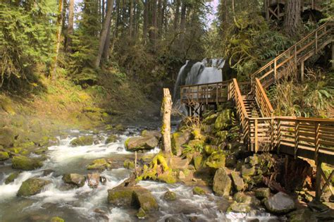
[{"label": "upright tan boulder with pointed top, on bank left of lower walkway", "polygon": [[214,175],[213,190],[218,196],[230,195],[232,180],[228,175],[227,168],[218,168]]}]

